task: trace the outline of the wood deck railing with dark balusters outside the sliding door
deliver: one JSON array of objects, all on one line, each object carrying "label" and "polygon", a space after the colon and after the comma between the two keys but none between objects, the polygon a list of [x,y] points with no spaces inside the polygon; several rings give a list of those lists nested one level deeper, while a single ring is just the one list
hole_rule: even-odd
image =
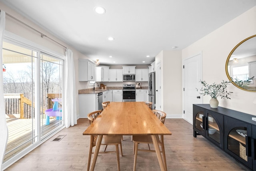
[{"label": "wood deck railing with dark balusters outside the sliding door", "polygon": [[[59,93],[48,93],[48,109],[52,108],[54,98],[61,98]],[[7,115],[20,114],[20,119],[30,119],[32,118],[32,101],[24,97],[24,94],[20,93],[8,93],[4,94],[5,99],[5,111]],[[61,104],[60,104],[61,105]],[[45,115],[45,110],[41,108],[41,113]],[[34,111],[34,110],[33,110]],[[34,117],[34,113],[33,113]]]}]

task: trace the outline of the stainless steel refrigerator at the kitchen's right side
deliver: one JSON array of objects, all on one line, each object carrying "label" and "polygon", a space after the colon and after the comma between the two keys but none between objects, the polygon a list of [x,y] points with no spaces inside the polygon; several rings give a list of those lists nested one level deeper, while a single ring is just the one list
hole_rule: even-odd
[{"label": "stainless steel refrigerator at the kitchen's right side", "polygon": [[148,74],[148,101],[152,102],[152,109],[156,107],[156,72]]}]

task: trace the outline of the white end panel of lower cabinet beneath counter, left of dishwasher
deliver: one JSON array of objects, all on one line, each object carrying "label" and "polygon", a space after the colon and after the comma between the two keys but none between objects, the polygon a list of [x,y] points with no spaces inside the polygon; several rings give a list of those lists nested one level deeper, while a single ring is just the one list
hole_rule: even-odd
[{"label": "white end panel of lower cabinet beneath counter, left of dishwasher", "polygon": [[79,94],[79,117],[87,117],[88,113],[98,110],[98,93]]}]

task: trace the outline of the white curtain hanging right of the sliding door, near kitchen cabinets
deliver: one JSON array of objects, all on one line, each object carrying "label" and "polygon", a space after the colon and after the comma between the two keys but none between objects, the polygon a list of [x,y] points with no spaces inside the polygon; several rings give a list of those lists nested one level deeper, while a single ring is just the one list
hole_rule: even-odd
[{"label": "white curtain hanging right of the sliding door, near kitchen cabinets", "polygon": [[72,50],[66,51],[65,62],[65,125],[66,127],[74,126],[77,124],[76,118],[76,79],[75,67]]}]

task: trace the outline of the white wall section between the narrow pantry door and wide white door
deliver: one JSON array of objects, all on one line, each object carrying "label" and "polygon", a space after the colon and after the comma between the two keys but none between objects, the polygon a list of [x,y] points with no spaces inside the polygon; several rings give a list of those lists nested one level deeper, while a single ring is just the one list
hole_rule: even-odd
[{"label": "white wall section between the narrow pantry door and wide white door", "polygon": [[167,118],[182,118],[182,53],[178,50],[163,50],[156,56],[156,64],[160,61],[161,110],[166,112]]}]

